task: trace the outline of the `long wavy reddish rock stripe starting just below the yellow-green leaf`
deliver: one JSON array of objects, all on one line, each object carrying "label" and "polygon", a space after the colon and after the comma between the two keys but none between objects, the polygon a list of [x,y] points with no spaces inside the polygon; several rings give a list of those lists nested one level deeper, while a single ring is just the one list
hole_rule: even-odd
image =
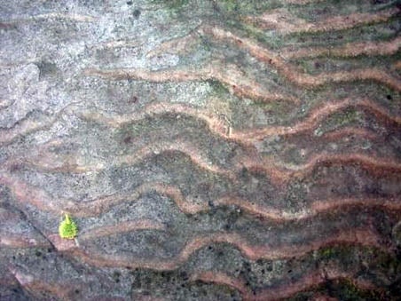
[{"label": "long wavy reddish rock stripe starting just below the yellow-green leaf", "polygon": [[241,253],[251,260],[257,260],[266,258],[270,260],[301,257],[304,254],[311,252],[312,250],[318,250],[327,245],[333,244],[355,244],[368,247],[376,247],[383,250],[381,244],[381,238],[378,234],[373,233],[368,229],[353,229],[344,230],[338,234],[334,234],[332,237],[324,240],[310,242],[304,245],[287,245],[279,246],[276,248],[265,247],[265,246],[253,246],[247,242],[246,239],[235,233],[220,233],[220,234],[208,234],[193,238],[188,242],[184,249],[172,259],[141,259],[138,257],[129,256],[117,256],[117,255],[106,255],[96,254],[94,252],[88,252],[79,248],[68,250],[67,255],[79,257],[83,261],[90,265],[96,266],[110,266],[110,267],[127,267],[130,268],[149,268],[154,270],[172,270],[176,269],[179,265],[184,264],[194,252],[204,248],[213,243],[229,243],[234,247],[238,248]]}]

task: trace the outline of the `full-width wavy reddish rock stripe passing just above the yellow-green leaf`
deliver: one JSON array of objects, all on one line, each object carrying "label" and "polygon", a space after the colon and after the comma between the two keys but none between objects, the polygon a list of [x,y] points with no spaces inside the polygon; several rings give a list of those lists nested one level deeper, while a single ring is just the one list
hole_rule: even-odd
[{"label": "full-width wavy reddish rock stripe passing just above the yellow-green leaf", "polygon": [[[2,181],[3,180],[3,181]],[[54,198],[44,194],[43,191],[27,186],[25,183],[18,181],[11,182],[10,178],[4,181],[0,178],[2,183],[7,185],[14,191],[17,187],[24,187],[20,194],[16,195],[16,201],[21,204],[29,203],[37,208],[45,211],[51,211],[56,215],[61,214],[63,211],[68,212],[75,217],[95,217],[111,210],[113,206],[122,202],[132,202],[137,200],[141,194],[155,191],[158,194],[168,196],[173,202],[177,204],[179,210],[185,214],[197,214],[201,211],[210,210],[207,203],[188,202],[181,191],[176,186],[169,186],[160,182],[148,182],[138,186],[132,194],[113,194],[101,197],[97,200],[90,202],[71,202],[69,200],[55,200]],[[22,194],[22,192],[29,192],[29,194]],[[51,207],[51,202],[59,203],[57,209]],[[327,211],[334,210],[334,208],[347,207],[347,206],[360,206],[360,207],[378,207],[387,211],[397,212],[401,210],[401,202],[398,199],[377,199],[366,197],[364,199],[356,198],[333,198],[325,201],[317,201],[311,204],[311,208],[305,209],[300,212],[289,213],[284,210],[279,210],[271,207],[266,207],[256,202],[242,199],[235,196],[225,196],[214,201],[219,206],[235,205],[240,209],[245,210],[248,214],[260,216],[275,222],[285,222],[295,219],[312,218],[318,214],[323,214]]]}]

